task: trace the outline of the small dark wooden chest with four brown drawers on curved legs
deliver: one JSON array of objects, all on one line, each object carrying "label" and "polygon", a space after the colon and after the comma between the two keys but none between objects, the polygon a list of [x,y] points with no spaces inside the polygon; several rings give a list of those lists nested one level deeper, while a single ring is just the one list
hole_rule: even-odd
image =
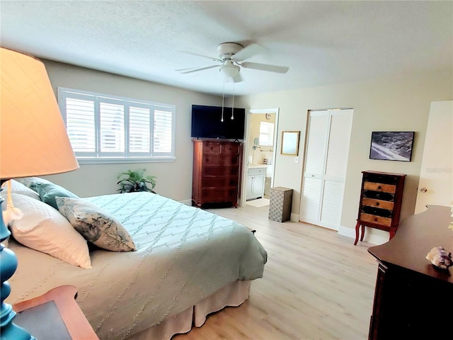
[{"label": "small dark wooden chest with four brown drawers on curved legs", "polygon": [[365,227],[385,230],[394,237],[399,224],[406,174],[362,171],[359,215],[355,225],[355,242],[363,241]]}]

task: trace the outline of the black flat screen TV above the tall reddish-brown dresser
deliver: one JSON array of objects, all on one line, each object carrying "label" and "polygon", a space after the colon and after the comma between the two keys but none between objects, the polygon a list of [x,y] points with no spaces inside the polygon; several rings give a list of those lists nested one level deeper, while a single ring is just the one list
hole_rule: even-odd
[{"label": "black flat screen TV above the tall reddish-brown dresser", "polygon": [[221,106],[192,106],[193,138],[222,138],[229,140],[243,140],[245,108],[234,108],[234,119],[231,119],[231,108],[224,108],[222,122]]}]

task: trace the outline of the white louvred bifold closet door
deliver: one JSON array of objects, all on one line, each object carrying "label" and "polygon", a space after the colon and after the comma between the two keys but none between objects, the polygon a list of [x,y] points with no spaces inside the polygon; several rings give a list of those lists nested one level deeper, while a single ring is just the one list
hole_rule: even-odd
[{"label": "white louvred bifold closet door", "polygon": [[343,209],[352,109],[310,111],[304,179],[302,222],[338,230]]}]

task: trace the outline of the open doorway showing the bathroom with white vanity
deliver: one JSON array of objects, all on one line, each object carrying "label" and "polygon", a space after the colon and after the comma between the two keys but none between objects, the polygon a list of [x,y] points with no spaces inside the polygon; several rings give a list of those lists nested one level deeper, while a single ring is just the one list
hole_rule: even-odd
[{"label": "open doorway showing the bathroom with white vanity", "polygon": [[278,108],[251,109],[243,149],[241,205],[268,205],[277,154]]}]

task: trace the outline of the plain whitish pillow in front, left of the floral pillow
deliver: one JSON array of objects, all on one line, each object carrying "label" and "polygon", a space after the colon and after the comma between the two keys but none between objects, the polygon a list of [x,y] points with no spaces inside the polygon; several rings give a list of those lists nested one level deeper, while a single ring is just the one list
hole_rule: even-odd
[{"label": "plain whitish pillow in front, left of the floral pillow", "polygon": [[24,214],[11,222],[11,233],[19,243],[74,266],[91,268],[86,240],[58,210],[28,196],[13,193],[11,198]]}]

